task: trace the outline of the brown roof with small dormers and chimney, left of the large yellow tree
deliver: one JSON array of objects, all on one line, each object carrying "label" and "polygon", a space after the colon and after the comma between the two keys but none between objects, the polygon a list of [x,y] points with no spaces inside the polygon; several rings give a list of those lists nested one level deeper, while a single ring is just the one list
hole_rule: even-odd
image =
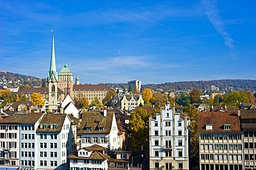
[{"label": "brown roof with small dormers and chimney, left of the large yellow tree", "polygon": [[[82,113],[82,122],[78,134],[109,134],[111,131],[113,120],[113,112],[107,112],[107,116],[103,116],[103,111],[85,111]],[[86,131],[86,128],[90,128]],[[102,131],[98,127],[103,127]]]}]

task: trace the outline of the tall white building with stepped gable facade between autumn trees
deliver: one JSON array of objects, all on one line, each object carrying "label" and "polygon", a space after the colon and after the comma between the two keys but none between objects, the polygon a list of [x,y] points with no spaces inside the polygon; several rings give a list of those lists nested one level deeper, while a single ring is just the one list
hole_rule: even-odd
[{"label": "tall white building with stepped gable facade between autumn trees", "polygon": [[149,118],[149,169],[189,169],[189,125],[170,103]]}]

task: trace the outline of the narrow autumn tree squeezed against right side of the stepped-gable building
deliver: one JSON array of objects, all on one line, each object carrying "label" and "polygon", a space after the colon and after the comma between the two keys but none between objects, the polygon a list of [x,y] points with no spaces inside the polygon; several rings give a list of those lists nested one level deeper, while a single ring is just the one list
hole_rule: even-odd
[{"label": "narrow autumn tree squeezed against right side of the stepped-gable building", "polygon": [[[190,158],[192,166],[198,166],[199,160],[199,133],[198,133],[198,109],[194,105],[188,105],[183,109],[185,114],[190,117]],[[194,167],[193,166],[193,167]]]}]

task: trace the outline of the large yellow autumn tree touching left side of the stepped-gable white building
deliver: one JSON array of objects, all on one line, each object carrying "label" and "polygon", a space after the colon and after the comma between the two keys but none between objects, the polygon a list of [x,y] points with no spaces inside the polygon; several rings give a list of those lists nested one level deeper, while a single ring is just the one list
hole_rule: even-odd
[{"label": "large yellow autumn tree touching left side of the stepped-gable white building", "polygon": [[139,151],[140,147],[143,146],[146,151],[149,151],[149,116],[154,117],[156,113],[160,113],[160,110],[146,111],[143,108],[139,108],[131,112],[129,120],[131,150]]}]

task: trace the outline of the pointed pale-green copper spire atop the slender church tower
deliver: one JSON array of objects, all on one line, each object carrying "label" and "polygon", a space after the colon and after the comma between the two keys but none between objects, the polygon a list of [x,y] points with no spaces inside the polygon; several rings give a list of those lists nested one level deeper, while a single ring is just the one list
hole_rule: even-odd
[{"label": "pointed pale-green copper spire atop the slender church tower", "polygon": [[52,44],[52,52],[51,52],[51,63],[50,63],[50,70],[48,74],[48,81],[51,81],[51,78],[55,78],[57,81],[57,70],[56,70],[56,63],[55,63],[55,50],[54,50],[54,31],[53,32],[53,44]]}]

